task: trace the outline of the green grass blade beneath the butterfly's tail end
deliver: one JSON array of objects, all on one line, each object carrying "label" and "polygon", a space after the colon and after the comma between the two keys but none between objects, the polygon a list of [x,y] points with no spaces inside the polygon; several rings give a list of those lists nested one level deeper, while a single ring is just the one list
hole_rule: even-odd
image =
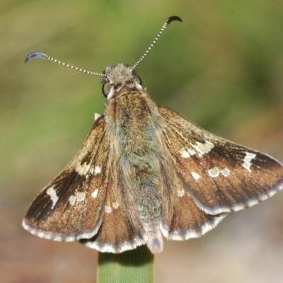
[{"label": "green grass blade beneath the butterfly's tail end", "polygon": [[97,283],[154,283],[154,255],[146,246],[124,253],[98,253]]}]

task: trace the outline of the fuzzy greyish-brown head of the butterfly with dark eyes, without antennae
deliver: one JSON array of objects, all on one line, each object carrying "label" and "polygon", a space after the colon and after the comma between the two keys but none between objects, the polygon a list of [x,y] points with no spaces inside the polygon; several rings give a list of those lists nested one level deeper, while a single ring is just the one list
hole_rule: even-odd
[{"label": "fuzzy greyish-brown head of the butterfly with dark eyes, without antennae", "polygon": [[141,90],[141,79],[127,65],[118,63],[116,67],[107,66],[103,72],[103,95],[110,99],[123,88]]}]

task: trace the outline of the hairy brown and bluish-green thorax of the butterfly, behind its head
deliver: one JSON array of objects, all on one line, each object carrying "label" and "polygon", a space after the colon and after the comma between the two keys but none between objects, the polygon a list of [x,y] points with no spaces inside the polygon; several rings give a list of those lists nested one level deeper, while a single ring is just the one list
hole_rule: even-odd
[{"label": "hairy brown and bluish-green thorax of the butterfly, behind its head", "polygon": [[[125,89],[108,100],[105,107],[106,127],[116,156],[123,166],[130,164],[140,171],[150,169],[158,159],[161,117],[157,106],[144,91]],[[155,168],[158,170],[158,168]]]}]

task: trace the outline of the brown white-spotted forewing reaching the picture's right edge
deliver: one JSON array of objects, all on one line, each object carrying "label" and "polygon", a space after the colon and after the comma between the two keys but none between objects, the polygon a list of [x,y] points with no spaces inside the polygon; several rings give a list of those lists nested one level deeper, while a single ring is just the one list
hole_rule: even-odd
[{"label": "brown white-spotted forewing reaching the picture's right edge", "polygon": [[245,209],[282,189],[283,167],[274,158],[216,137],[169,108],[158,109],[175,171],[207,214]]}]

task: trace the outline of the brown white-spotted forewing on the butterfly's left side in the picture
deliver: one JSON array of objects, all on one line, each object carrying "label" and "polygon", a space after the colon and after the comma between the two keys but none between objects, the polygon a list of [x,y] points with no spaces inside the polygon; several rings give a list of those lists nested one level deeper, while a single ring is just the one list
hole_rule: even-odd
[{"label": "brown white-spotted forewing on the butterfly's left side in the picture", "polygon": [[23,220],[42,238],[74,241],[97,233],[110,186],[104,117],[98,118],[75,158],[35,198]]}]

